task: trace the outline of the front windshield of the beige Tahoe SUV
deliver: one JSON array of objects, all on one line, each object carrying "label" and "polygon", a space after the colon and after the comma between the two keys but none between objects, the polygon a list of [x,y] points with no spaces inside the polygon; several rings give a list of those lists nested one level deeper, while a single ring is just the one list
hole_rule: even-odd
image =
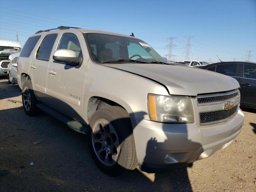
[{"label": "front windshield of the beige Tahoe SUV", "polygon": [[99,33],[84,34],[94,62],[162,62],[166,61],[142,40]]}]

